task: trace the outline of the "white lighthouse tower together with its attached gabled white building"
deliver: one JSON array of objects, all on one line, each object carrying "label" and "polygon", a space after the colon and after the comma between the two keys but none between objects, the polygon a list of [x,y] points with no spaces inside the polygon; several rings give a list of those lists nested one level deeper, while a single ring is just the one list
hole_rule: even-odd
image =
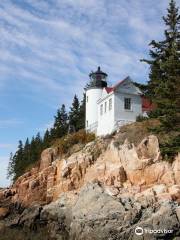
[{"label": "white lighthouse tower together with its attached gabled white building", "polygon": [[98,67],[89,74],[86,90],[86,130],[103,136],[136,121],[143,114],[142,92],[130,77],[107,86],[107,74]]}]

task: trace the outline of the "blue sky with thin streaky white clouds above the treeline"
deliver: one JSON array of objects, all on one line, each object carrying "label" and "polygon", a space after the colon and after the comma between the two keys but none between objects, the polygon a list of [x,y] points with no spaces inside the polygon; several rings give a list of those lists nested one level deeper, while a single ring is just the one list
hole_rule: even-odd
[{"label": "blue sky with thin streaky white clouds above the treeline", "polygon": [[[148,79],[139,59],[161,39],[168,0],[0,1],[0,186],[9,153],[82,95],[97,66],[113,84]],[[180,6],[180,0],[176,1]]]}]

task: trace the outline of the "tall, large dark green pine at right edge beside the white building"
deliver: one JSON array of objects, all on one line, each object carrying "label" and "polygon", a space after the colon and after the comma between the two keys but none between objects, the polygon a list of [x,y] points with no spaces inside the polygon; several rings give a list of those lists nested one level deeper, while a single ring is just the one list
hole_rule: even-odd
[{"label": "tall, large dark green pine at right edge beside the white building", "polygon": [[154,114],[163,130],[180,127],[180,15],[174,0],[169,3],[163,41],[150,43],[148,95],[156,104]]}]

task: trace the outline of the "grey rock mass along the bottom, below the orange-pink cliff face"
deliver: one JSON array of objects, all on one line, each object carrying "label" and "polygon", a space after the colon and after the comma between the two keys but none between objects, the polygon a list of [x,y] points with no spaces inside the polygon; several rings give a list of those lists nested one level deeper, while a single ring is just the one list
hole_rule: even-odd
[{"label": "grey rock mass along the bottom, below the orange-pink cliff face", "polygon": [[[42,229],[48,233],[44,238],[48,240],[177,239],[180,235],[178,203],[159,200],[145,205],[145,200],[141,200],[133,196],[111,196],[99,182],[88,183],[77,194],[61,194],[48,205],[26,208],[16,214],[16,228],[12,228],[13,222],[9,227],[29,230],[35,234],[34,239]],[[10,216],[5,220],[0,223],[0,233],[7,228]],[[144,231],[141,236],[135,233],[139,227]]]}]

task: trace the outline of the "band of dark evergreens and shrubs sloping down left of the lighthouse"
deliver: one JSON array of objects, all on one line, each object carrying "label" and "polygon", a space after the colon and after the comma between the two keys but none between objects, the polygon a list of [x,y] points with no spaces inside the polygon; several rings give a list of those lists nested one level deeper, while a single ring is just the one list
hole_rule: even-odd
[{"label": "band of dark evergreens and shrubs sloping down left of the lighthouse", "polygon": [[66,112],[65,105],[62,104],[54,117],[53,127],[45,131],[43,138],[41,138],[40,133],[37,133],[31,141],[27,138],[25,144],[21,140],[19,141],[17,151],[14,155],[12,153],[10,155],[7,169],[8,178],[15,181],[27,170],[38,164],[41,152],[53,145],[56,139],[60,139],[59,141],[62,142],[59,148],[63,152],[66,152],[76,143],[85,143],[94,139],[94,135],[86,134],[85,131],[69,135],[70,125],[73,125],[76,131],[85,127],[85,94],[81,103],[75,95],[69,114]]}]

